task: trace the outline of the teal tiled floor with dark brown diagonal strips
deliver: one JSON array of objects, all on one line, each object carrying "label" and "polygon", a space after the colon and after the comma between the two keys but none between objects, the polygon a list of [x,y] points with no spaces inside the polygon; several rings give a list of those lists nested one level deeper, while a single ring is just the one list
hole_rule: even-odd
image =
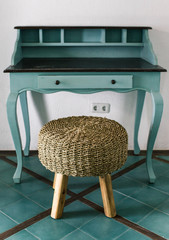
[{"label": "teal tiled floor with dark brown diagonal strips", "polygon": [[[129,156],[119,171],[144,158],[144,155]],[[112,184],[118,215],[114,219],[105,217],[102,212],[100,188],[96,185],[98,178],[69,177],[68,189],[76,196],[93,185],[96,187],[72,202],[67,195],[62,219],[54,220],[47,214],[35,222],[31,220],[33,217],[51,208],[54,175],[32,155],[24,158],[24,167],[47,181],[24,171],[22,183],[14,184],[15,167],[6,160],[16,162],[16,157],[0,156],[0,234],[10,232],[6,238],[0,235],[0,240],[169,239],[169,156],[154,157],[155,184],[148,183],[145,163],[128,169],[121,176],[116,176],[117,172],[112,174],[116,176]],[[30,223],[25,227],[23,222]],[[21,228],[17,230],[19,224]]]}]

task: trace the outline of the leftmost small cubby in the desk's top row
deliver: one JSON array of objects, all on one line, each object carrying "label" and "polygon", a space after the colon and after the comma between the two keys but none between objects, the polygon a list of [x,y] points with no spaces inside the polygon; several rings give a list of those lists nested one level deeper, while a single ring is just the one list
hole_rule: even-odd
[{"label": "leftmost small cubby in the desk's top row", "polygon": [[23,43],[38,43],[39,29],[22,29],[21,36]]}]

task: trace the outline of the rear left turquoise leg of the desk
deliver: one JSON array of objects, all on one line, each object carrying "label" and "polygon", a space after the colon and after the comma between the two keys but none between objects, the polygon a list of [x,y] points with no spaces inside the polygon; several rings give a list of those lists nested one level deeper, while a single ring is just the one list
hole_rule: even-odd
[{"label": "rear left turquoise leg of the desk", "polygon": [[22,108],[22,115],[25,125],[25,133],[26,133],[26,144],[24,148],[24,156],[29,156],[29,148],[30,148],[30,124],[29,124],[29,113],[28,113],[28,103],[27,103],[27,93],[22,92],[19,94],[20,103]]}]

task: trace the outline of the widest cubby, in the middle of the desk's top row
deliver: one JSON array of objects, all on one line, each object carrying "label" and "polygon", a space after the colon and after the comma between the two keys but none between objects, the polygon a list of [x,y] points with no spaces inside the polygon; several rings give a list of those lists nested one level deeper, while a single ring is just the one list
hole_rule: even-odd
[{"label": "widest cubby, in the middle of the desk's top row", "polygon": [[65,43],[100,43],[102,29],[65,29]]}]

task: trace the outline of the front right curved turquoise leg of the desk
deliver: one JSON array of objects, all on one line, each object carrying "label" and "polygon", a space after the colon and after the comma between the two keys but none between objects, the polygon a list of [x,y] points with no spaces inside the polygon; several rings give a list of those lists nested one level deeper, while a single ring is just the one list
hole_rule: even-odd
[{"label": "front right curved turquoise leg of the desk", "polygon": [[152,117],[149,137],[148,137],[146,158],[147,158],[147,171],[148,171],[150,183],[154,183],[156,176],[154,174],[153,166],[152,166],[152,153],[153,153],[153,147],[156,140],[157,132],[161,122],[161,117],[163,112],[163,98],[159,92],[152,92],[151,96],[153,100],[153,117]]}]

